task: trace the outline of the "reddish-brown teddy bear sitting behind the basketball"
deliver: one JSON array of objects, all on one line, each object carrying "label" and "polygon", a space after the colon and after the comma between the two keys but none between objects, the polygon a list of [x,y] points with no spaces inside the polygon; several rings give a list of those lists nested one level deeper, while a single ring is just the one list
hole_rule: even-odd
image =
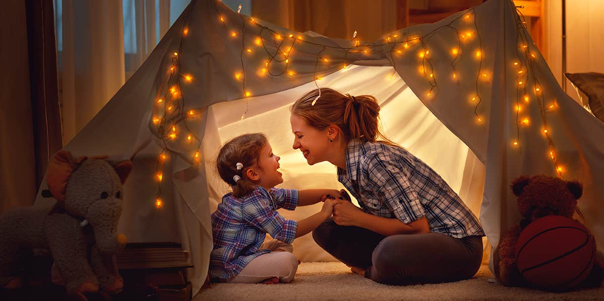
[{"label": "reddish-brown teddy bear sitting behind the basketball", "polygon": [[[583,186],[577,181],[565,181],[550,176],[521,176],[510,185],[516,195],[518,211],[522,215],[519,225],[512,227],[501,238],[498,252],[500,262],[498,279],[508,287],[530,287],[516,265],[516,242],[522,230],[538,218],[550,215],[573,218],[577,200],[583,194]],[[588,235],[592,235],[588,233]],[[590,274],[575,288],[594,288],[602,284],[602,264],[594,261]]]}]

